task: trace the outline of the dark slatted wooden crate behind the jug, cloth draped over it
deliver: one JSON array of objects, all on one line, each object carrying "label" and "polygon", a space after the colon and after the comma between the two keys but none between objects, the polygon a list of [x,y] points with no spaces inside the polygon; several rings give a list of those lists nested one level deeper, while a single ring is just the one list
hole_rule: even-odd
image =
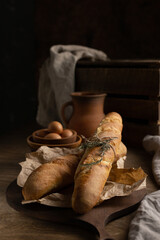
[{"label": "dark slatted wooden crate behind the jug, cloth draped over it", "polygon": [[76,91],[106,92],[104,111],[119,112],[124,120],[123,141],[142,146],[146,134],[160,133],[160,61],[80,61]]}]

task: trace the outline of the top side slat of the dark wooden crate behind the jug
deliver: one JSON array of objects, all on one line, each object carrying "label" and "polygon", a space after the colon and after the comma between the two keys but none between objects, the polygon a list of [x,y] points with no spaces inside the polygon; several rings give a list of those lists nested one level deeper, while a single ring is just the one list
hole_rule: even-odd
[{"label": "top side slat of the dark wooden crate behind the jug", "polygon": [[[159,69],[138,67],[77,68],[76,88],[79,91],[97,91],[107,94],[159,96]],[[100,84],[97,84],[99,82]]]}]

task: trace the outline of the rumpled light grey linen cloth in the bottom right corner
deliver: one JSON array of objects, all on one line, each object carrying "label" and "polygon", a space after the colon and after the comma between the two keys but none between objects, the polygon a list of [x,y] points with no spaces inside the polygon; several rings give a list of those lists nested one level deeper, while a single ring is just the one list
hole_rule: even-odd
[{"label": "rumpled light grey linen cloth in the bottom right corner", "polygon": [[160,239],[160,190],[148,194],[142,200],[130,224],[128,239]]}]

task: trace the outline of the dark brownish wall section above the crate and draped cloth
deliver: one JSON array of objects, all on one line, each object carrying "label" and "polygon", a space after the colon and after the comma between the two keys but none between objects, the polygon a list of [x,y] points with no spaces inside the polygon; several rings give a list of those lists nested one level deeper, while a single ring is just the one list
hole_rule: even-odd
[{"label": "dark brownish wall section above the crate and draped cloth", "polygon": [[159,0],[37,0],[39,65],[53,44],[81,44],[115,58],[160,58]]}]

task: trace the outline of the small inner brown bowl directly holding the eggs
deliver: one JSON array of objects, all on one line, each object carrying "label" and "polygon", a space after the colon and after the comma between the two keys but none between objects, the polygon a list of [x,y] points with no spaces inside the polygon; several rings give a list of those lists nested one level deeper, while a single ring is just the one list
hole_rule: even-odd
[{"label": "small inner brown bowl directly holding the eggs", "polygon": [[66,144],[66,143],[73,143],[77,139],[77,132],[70,129],[72,131],[72,136],[65,137],[61,139],[45,139],[44,136],[50,133],[48,129],[39,129],[32,133],[33,141],[37,143],[44,143],[44,144]]}]

